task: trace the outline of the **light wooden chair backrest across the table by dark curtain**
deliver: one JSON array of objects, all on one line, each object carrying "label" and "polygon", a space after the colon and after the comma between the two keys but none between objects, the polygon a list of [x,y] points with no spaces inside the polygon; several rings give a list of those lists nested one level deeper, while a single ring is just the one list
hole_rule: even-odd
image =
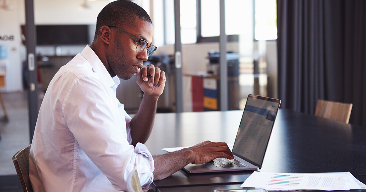
[{"label": "light wooden chair backrest across the table by dark curtain", "polygon": [[340,103],[319,99],[315,116],[347,123],[350,120],[352,103]]}]

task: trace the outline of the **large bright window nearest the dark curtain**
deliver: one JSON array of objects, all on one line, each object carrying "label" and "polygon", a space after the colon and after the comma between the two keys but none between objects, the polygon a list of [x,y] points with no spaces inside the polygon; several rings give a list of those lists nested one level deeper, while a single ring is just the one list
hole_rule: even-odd
[{"label": "large bright window nearest the dark curtain", "polygon": [[[198,0],[197,14],[201,27],[198,42],[218,41],[220,35],[219,0]],[[254,3],[254,6],[253,6]],[[253,17],[243,17],[243,12],[253,12]],[[237,41],[235,35],[253,30],[255,40],[277,39],[276,0],[225,0],[225,33],[228,41]],[[253,25],[248,19],[254,18]],[[210,38],[211,37],[211,38]],[[205,38],[210,38],[205,40]],[[203,41],[202,41],[203,40]]]}]

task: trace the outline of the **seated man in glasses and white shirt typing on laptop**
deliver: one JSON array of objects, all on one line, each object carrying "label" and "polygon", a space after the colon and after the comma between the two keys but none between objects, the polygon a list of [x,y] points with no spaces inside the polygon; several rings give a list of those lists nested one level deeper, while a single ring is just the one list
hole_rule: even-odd
[{"label": "seated man in glasses and white shirt typing on laptop", "polygon": [[[147,190],[188,163],[233,158],[225,143],[160,156],[142,144],[166,80],[164,71],[142,65],[156,50],[152,36],[151,19],[138,5],[122,0],[103,8],[93,43],[60,68],[42,101],[29,162],[34,191],[124,191],[134,169]],[[119,78],[133,74],[144,94],[131,118],[115,90]]]}]

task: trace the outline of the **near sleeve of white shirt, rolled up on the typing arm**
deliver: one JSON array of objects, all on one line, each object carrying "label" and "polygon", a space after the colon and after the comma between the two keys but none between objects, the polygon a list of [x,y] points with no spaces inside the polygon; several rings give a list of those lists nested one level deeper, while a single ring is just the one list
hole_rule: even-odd
[{"label": "near sleeve of white shirt, rolled up on the typing arm", "polygon": [[[131,117],[126,112],[121,115],[115,95],[108,89],[97,78],[77,79],[61,103],[66,124],[76,139],[75,145],[80,146],[116,190],[127,190],[128,175],[136,169],[146,191],[153,181],[152,155],[143,144],[136,147],[130,144]],[[78,153],[75,150],[74,158]]]}]

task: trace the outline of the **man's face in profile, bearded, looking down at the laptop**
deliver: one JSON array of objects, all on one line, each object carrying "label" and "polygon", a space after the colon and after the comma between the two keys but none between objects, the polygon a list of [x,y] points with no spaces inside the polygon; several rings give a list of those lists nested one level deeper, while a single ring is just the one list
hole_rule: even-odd
[{"label": "man's face in profile, bearded, looking down at the laptop", "polygon": [[[153,39],[153,25],[150,22],[136,19],[136,25],[132,26],[116,26],[138,38],[146,40],[149,44]],[[113,35],[111,38],[111,46],[108,50],[107,61],[114,74],[119,78],[127,80],[138,72],[138,68],[142,67],[142,61],[147,60],[146,48],[138,53],[136,46],[138,40],[131,37],[127,33],[120,31],[114,27],[111,28]]]}]

